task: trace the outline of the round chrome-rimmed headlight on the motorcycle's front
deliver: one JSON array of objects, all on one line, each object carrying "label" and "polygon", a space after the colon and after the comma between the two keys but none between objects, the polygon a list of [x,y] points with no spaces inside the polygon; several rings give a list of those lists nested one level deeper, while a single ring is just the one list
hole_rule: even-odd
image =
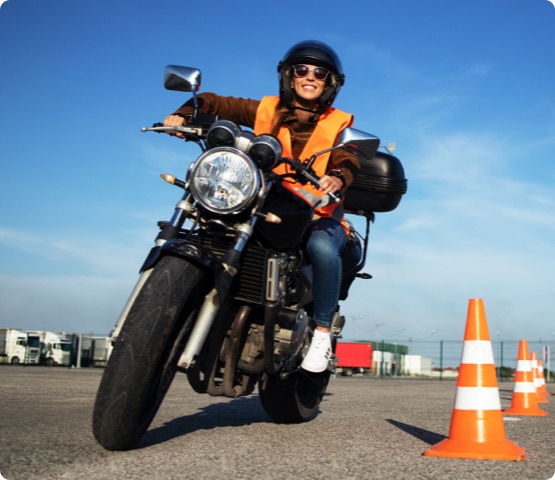
[{"label": "round chrome-rimmed headlight on the motorcycle's front", "polygon": [[257,197],[260,175],[252,160],[233,147],[214,148],[194,163],[189,177],[191,193],[215,213],[239,213]]}]

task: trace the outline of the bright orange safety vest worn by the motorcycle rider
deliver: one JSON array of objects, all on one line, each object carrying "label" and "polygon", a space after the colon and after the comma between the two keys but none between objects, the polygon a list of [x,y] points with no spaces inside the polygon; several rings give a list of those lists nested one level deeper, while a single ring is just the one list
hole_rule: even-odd
[{"label": "bright orange safety vest worn by the motorcycle rider", "polygon": [[[256,135],[271,132],[278,103],[279,97],[262,98],[258,110],[256,111],[256,119],[254,122],[254,133]],[[350,127],[352,124],[352,115],[337,110],[336,108],[328,108],[321,115],[314,132],[312,132],[312,135],[303,148],[301,158],[298,160],[308,161],[314,153],[333,147],[333,142],[339,132],[346,127]],[[282,155],[284,157],[293,158],[291,135],[289,129],[285,125],[280,126],[277,138],[281,142]],[[312,168],[318,177],[323,177],[328,172],[330,153],[331,152],[327,152],[323,155],[319,155],[312,164]],[[274,172],[283,175],[286,173],[293,173],[293,170],[286,163],[281,163],[274,168]],[[282,183],[285,188],[312,205],[314,207],[314,214],[317,218],[333,218],[342,223],[345,228],[348,228],[343,220],[343,201],[338,203],[333,202],[326,193],[318,190],[318,188],[311,183],[303,185],[299,182],[295,182],[293,179],[284,179]],[[328,201],[330,203],[327,203]]]}]

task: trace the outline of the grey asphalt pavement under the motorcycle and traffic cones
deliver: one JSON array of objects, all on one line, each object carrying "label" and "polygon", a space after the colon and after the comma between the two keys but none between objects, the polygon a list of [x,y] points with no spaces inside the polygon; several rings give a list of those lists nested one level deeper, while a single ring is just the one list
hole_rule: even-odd
[{"label": "grey asphalt pavement under the motorcycle and traffic cones", "polygon": [[[449,436],[456,382],[337,377],[320,413],[270,421],[253,394],[195,393],[178,374],[139,448],[108,452],[91,431],[102,369],[0,366],[0,473],[56,479],[527,479],[555,474],[555,396],[547,417],[505,417],[524,461],[431,458]],[[553,394],[553,384],[548,390]],[[503,409],[513,384],[499,384]]]}]

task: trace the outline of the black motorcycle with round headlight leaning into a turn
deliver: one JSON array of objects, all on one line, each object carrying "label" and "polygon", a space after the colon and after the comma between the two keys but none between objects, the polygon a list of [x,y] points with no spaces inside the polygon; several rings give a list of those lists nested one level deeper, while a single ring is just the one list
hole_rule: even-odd
[{"label": "black motorcycle with round headlight leaning into a turn", "polygon": [[[108,450],[137,446],[177,372],[195,392],[212,396],[250,395],[258,386],[273,421],[301,423],[317,413],[337,366],[332,355],[322,373],[300,368],[314,329],[311,267],[303,246],[313,209],[272,171],[287,162],[296,179],[319,185],[311,165],[325,152],[308,161],[283,158],[275,137],[198,114],[200,81],[198,69],[166,67],[165,87],[190,92],[195,112],[185,126],[142,129],[180,133],[198,144],[201,154],[185,180],[161,175],[183,194],[171,219],[158,222],[155,244],[112,333],[113,351],[93,412],[94,436]],[[347,128],[333,147],[373,161],[372,168],[380,158],[391,157],[394,164],[378,175],[378,184],[365,185],[361,178],[360,188],[343,199],[347,212],[366,218],[366,234],[352,230],[341,300],[355,278],[371,278],[360,272],[373,212],[395,208],[404,193],[402,166],[392,155],[380,155],[379,144],[377,137]],[[384,193],[384,181],[393,195]],[[372,199],[361,202],[361,192]],[[376,203],[380,195],[391,198]],[[334,350],[344,321],[338,306],[331,329]]]}]

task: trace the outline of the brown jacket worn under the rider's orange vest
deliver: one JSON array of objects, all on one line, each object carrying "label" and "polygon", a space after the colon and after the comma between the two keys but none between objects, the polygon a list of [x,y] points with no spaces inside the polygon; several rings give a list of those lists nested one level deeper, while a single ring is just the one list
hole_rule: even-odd
[{"label": "brown jacket worn under the rider's orange vest", "polygon": [[[251,100],[238,97],[222,97],[214,93],[201,93],[198,95],[199,111],[205,114],[217,114],[221,118],[226,118],[239,125],[254,128],[256,112],[259,100]],[[174,115],[181,115],[185,118],[193,113],[193,103],[189,100],[187,103],[178,108]],[[291,134],[293,156],[298,158],[301,154],[306,142],[316,127],[316,117],[314,122],[299,121],[295,111],[282,109],[279,118],[276,119],[276,127],[279,124],[286,125]],[[277,128],[276,128],[277,130]],[[274,132],[268,132],[274,133]],[[334,145],[339,143],[339,137],[335,139]],[[330,156],[329,170],[339,170],[340,173],[332,173],[332,175],[340,176],[343,180],[341,192],[344,192],[353,182],[360,170],[360,164],[351,152],[343,149],[335,150]]]}]

